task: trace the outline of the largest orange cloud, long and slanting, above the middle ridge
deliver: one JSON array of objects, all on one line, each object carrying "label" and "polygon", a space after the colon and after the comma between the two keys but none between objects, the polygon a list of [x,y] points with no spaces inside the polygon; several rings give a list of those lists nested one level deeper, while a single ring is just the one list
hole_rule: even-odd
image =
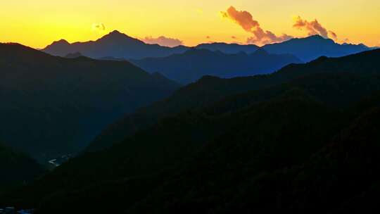
[{"label": "largest orange cloud, long and slanting, above the middle ridge", "polygon": [[229,18],[236,24],[240,25],[243,30],[253,34],[253,37],[247,39],[247,43],[251,44],[268,44],[274,42],[284,42],[293,37],[288,34],[277,36],[269,30],[262,30],[260,23],[253,19],[253,16],[248,11],[237,11],[236,8],[230,6],[226,12],[220,12],[223,18]]}]

